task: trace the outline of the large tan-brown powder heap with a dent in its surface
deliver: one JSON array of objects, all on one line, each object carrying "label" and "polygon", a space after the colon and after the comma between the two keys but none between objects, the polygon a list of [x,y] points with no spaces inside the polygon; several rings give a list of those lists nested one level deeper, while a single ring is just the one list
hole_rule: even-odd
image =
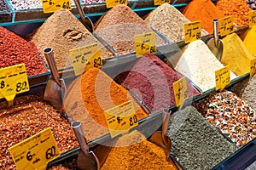
[{"label": "large tan-brown powder heap with a dent in its surface", "polygon": [[[102,58],[113,57],[100,42],[96,40],[84,25],[67,9],[60,9],[52,14],[32,36],[32,41],[41,52],[44,48],[54,50],[55,63],[58,69],[71,66],[69,49],[98,43]],[[45,59],[45,58],[44,58]]]}]

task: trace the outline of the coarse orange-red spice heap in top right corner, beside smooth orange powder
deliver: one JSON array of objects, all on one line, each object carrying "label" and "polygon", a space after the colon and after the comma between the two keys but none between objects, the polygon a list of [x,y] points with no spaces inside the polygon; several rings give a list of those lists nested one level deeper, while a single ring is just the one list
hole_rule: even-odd
[{"label": "coarse orange-red spice heap in top right corner, beside smooth orange powder", "polygon": [[233,15],[238,26],[248,26],[248,12],[252,9],[244,0],[218,0],[216,6],[225,16]]}]

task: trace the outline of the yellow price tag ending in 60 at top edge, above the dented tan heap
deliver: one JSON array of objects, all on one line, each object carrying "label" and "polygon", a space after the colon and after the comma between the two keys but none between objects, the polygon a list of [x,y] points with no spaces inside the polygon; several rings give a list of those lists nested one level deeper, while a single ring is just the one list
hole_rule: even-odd
[{"label": "yellow price tag ending in 60 at top edge, above the dented tan heap", "polygon": [[70,0],[41,0],[41,3],[44,13],[54,13],[61,8],[72,9]]}]

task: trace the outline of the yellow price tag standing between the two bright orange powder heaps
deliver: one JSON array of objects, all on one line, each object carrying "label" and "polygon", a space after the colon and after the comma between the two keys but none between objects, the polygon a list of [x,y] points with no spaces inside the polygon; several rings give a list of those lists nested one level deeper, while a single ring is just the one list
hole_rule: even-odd
[{"label": "yellow price tag standing between the two bright orange powder heaps", "polygon": [[108,123],[111,138],[127,132],[132,127],[137,127],[137,116],[132,101],[129,100],[122,105],[118,105],[104,111]]}]

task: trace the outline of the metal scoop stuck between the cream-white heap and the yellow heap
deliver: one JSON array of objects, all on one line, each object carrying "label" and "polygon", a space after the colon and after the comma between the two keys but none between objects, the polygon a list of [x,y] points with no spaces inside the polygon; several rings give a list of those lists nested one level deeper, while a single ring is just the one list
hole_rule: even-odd
[{"label": "metal scoop stuck between the cream-white heap and the yellow heap", "polygon": [[223,42],[218,38],[218,19],[213,20],[213,37],[207,41],[208,48],[212,51],[212,54],[221,61],[223,54]]}]

